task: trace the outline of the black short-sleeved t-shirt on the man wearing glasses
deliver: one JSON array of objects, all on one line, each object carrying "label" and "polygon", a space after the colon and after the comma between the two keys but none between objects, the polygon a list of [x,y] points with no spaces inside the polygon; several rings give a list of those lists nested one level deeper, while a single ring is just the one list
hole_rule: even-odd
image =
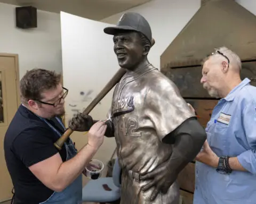
[{"label": "black short-sleeved t-shirt on the man wearing glasses", "polygon": [[[64,129],[54,118],[48,120],[61,134]],[[5,134],[4,152],[7,168],[14,186],[14,204],[34,204],[47,200],[53,191],[39,181],[29,166],[47,159],[57,152],[66,161],[66,149],[54,146],[59,135],[49,125],[20,106]]]}]

